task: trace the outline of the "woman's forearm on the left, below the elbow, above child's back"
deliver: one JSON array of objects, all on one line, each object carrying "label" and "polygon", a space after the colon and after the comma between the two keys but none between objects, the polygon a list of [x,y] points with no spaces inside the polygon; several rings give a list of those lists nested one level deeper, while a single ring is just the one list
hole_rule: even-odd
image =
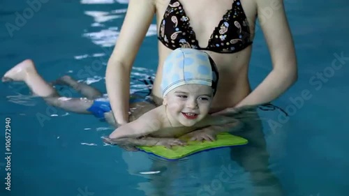
[{"label": "woman's forearm on the left, below the elbow, above child's back", "polygon": [[130,71],[117,61],[108,61],[105,85],[115,121],[119,125],[128,122],[128,100],[130,97]]}]

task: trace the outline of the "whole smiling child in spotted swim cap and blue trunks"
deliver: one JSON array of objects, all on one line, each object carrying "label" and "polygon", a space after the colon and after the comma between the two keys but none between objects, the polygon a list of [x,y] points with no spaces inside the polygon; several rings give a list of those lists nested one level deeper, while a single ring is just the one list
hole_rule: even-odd
[{"label": "whole smiling child in spotted swim cap and blue trunks", "polygon": [[[211,57],[200,50],[177,49],[166,59],[162,79],[163,105],[156,107],[136,96],[131,96],[130,107],[133,108],[131,123],[120,126],[105,142],[120,145],[154,146],[182,145],[184,142],[174,137],[181,137],[206,126],[231,126],[237,120],[227,116],[208,115],[211,100],[216,93],[218,71]],[[27,59],[8,70],[2,77],[3,82],[22,81],[31,91],[42,97],[47,104],[68,112],[94,114],[117,127],[110,103],[103,94],[84,83],[77,82],[69,76],[59,78],[53,84],[68,85],[85,98],[67,98],[59,96],[54,87],[43,80],[34,65]],[[150,111],[149,111],[150,110]],[[135,120],[133,120],[135,119]],[[214,132],[202,132],[205,140],[214,140]]]}]

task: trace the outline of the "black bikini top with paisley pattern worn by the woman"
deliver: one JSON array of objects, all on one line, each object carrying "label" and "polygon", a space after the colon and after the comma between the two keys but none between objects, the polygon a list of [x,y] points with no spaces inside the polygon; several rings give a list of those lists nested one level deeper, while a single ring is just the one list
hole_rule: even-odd
[{"label": "black bikini top with paisley pattern worn by the woman", "polygon": [[248,21],[240,0],[232,0],[232,8],[209,38],[207,47],[200,47],[195,32],[190,26],[183,6],[178,0],[171,0],[161,20],[158,39],[166,47],[190,47],[218,53],[235,53],[252,44]]}]

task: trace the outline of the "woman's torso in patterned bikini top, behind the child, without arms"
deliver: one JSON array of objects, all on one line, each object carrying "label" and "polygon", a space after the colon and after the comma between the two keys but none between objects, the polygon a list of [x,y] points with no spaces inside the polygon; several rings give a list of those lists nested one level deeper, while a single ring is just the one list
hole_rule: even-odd
[{"label": "woman's torso in patterned bikini top, behind the child, without arms", "polygon": [[[171,2],[171,6],[169,3]],[[219,3],[217,3],[219,2]],[[233,4],[234,3],[234,4]],[[169,9],[176,7],[176,10]],[[180,8],[179,8],[180,7]],[[183,10],[179,14],[175,14],[173,12]],[[222,30],[221,26],[223,26],[223,15],[225,18],[227,17],[227,10],[232,10],[229,12],[229,15],[235,15],[237,10],[237,17],[229,17],[228,22],[225,22],[225,26],[236,26],[240,27],[239,29],[234,29],[234,31],[242,31],[244,33],[244,38],[237,35],[233,35],[228,31]],[[167,23],[173,22],[167,29],[161,29],[161,23],[163,22],[164,13],[167,11],[169,16],[165,20]],[[183,13],[184,12],[184,13]],[[173,17],[174,15],[174,17]],[[223,110],[226,107],[233,107],[243,98],[245,98],[248,93],[250,93],[250,85],[248,83],[248,63],[251,57],[251,44],[248,44],[249,41],[253,40],[254,34],[254,24],[255,24],[255,15],[256,15],[256,6],[255,1],[249,0],[158,0],[156,1],[156,21],[161,34],[159,33],[159,38],[164,38],[164,34],[167,33],[165,39],[167,39],[168,44],[173,43],[170,35],[174,35],[176,31],[180,33],[189,33],[189,31],[184,27],[179,27],[179,29],[175,29],[175,25],[180,24],[177,20],[181,20],[183,17],[186,21],[190,22],[190,26],[193,32],[195,33],[195,40],[197,40],[196,45],[200,47],[200,50],[204,50],[207,52],[212,59],[214,59],[216,66],[219,71],[219,82],[218,82],[218,91],[216,96],[214,97],[213,103],[211,105],[211,112],[218,112],[219,110]],[[246,20],[244,20],[246,18]],[[244,21],[243,21],[244,20]],[[237,22],[235,22],[237,21]],[[220,23],[221,22],[221,23]],[[219,27],[218,27],[218,24]],[[246,24],[246,27],[242,27],[243,24]],[[179,25],[180,26],[180,25]],[[162,28],[163,28],[162,27]],[[174,27],[174,28],[169,28]],[[215,28],[218,27],[218,29]],[[219,31],[221,30],[221,31]],[[166,32],[166,33],[164,33]],[[221,33],[222,32],[222,33]],[[210,47],[209,49],[214,50],[216,52],[212,52],[207,49],[209,39],[211,35],[214,33],[214,37],[216,37],[216,42],[211,40],[211,43],[214,45],[221,44],[230,44],[230,49],[232,46],[235,46],[234,49],[238,50],[237,52],[230,50],[230,53],[226,53],[225,49],[218,50],[217,48]],[[229,34],[230,33],[230,34]],[[225,36],[228,35],[228,36]],[[241,34],[240,34],[241,35]],[[175,36],[175,35],[174,35]],[[220,36],[225,36],[225,39],[221,39]],[[228,37],[228,38],[227,38]],[[182,36],[179,40],[184,40],[183,38],[188,38],[188,36]],[[217,39],[219,38],[219,39]],[[234,39],[234,40],[232,40]],[[164,39],[163,39],[164,40]],[[177,43],[173,43],[171,46],[172,49],[174,47],[179,47],[178,39],[174,40]],[[217,40],[222,40],[221,43],[217,42]],[[235,41],[237,40],[237,41]],[[187,39],[188,42],[194,43],[193,36]],[[243,43],[244,42],[244,43]],[[165,43],[165,42],[163,42]],[[172,51],[171,47],[166,47],[161,41],[158,41],[158,53],[159,53],[159,61],[158,61],[158,70],[156,73],[156,80],[154,81],[153,87],[153,96],[154,100],[158,105],[162,103],[162,94],[161,94],[161,77],[162,77],[162,65],[163,61],[165,61],[166,57]],[[235,45],[234,45],[235,44]],[[186,47],[186,46],[184,46]],[[195,45],[194,45],[195,47]],[[222,53],[225,52],[225,53]]]}]

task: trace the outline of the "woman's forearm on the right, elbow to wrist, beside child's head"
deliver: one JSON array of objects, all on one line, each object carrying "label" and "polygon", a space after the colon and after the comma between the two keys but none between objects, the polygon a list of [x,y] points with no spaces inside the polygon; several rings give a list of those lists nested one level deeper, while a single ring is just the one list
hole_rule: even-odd
[{"label": "woman's forearm on the right, elbow to wrist, beside child's head", "polygon": [[272,70],[269,75],[246,98],[235,107],[261,105],[275,100],[297,80],[297,69]]}]

